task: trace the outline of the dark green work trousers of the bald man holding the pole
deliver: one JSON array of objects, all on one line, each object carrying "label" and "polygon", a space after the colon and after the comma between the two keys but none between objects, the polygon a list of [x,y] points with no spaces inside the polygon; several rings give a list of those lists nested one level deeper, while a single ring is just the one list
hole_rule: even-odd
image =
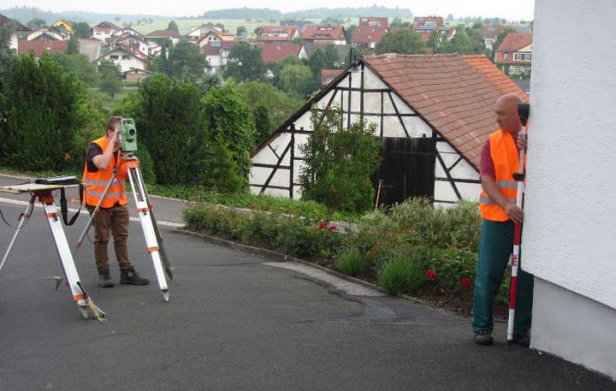
[{"label": "dark green work trousers of the bald man holding the pole", "polygon": [[[492,331],[494,327],[494,300],[503,282],[504,270],[512,254],[514,232],[515,224],[512,220],[505,222],[482,220],[474,288],[474,332]],[[533,276],[519,268],[517,287],[513,332],[525,333],[530,331]]]}]

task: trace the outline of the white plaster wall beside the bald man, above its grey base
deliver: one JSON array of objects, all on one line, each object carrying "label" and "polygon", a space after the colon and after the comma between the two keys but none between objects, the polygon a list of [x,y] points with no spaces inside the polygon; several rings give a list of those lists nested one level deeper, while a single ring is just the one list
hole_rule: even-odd
[{"label": "white plaster wall beside the bald man, above its grey base", "polygon": [[522,239],[528,272],[612,309],[616,309],[614,15],[616,3],[611,0],[536,1]]}]

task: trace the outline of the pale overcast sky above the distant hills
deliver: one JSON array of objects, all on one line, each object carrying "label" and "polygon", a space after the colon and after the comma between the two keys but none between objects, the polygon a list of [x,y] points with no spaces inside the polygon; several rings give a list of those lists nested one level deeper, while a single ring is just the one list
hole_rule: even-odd
[{"label": "pale overcast sky above the distant hills", "polygon": [[[199,4],[201,3],[201,4]],[[310,0],[291,2],[289,0],[225,0],[224,2],[195,2],[192,0],[2,0],[0,8],[29,6],[43,11],[88,11],[124,14],[150,14],[161,16],[194,16],[221,8],[270,8],[281,12],[311,8],[369,7],[378,4],[411,10],[413,15],[439,15],[450,13],[455,17],[481,16],[484,18],[505,18],[510,20],[533,19],[535,0]],[[370,16],[370,15],[366,15]]]}]

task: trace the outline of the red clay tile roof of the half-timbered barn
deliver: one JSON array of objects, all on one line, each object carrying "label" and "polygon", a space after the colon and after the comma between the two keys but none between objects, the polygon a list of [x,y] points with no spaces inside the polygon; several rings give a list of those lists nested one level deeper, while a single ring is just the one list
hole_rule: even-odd
[{"label": "red clay tile roof of the half-timbered barn", "polygon": [[498,97],[513,92],[528,101],[482,55],[387,54],[362,60],[477,169],[483,142],[498,128]]}]

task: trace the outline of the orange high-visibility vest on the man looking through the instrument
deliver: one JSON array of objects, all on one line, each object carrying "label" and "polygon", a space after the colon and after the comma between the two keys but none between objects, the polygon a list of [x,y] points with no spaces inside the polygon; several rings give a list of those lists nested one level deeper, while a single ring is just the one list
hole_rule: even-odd
[{"label": "orange high-visibility vest on the man looking through the instrument", "polygon": [[[106,137],[101,137],[93,142],[98,144],[98,146],[103,149],[103,152],[107,149],[107,145],[109,144]],[[113,167],[116,165],[115,160],[115,157],[112,157],[106,170],[98,170],[96,173],[90,173],[88,170],[88,159],[86,158],[86,167],[83,170],[83,184],[85,185],[83,200],[87,205],[96,207],[101,196],[103,196],[104,188],[107,187],[107,183],[112,179]],[[127,204],[126,180],[127,168],[125,165],[121,164],[120,160],[118,175],[116,175],[111,188],[109,188],[107,194],[104,196],[101,208],[111,208],[116,203],[120,205]]]}]

